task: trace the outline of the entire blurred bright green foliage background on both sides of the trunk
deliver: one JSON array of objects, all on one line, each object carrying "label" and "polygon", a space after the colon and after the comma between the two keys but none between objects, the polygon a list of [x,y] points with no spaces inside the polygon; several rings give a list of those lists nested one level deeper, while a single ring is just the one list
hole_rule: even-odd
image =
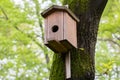
[{"label": "entire blurred bright green foliage background on both sides of the trunk", "polygon": [[[48,80],[53,52],[40,13],[62,0],[0,0],[0,80]],[[96,79],[120,79],[120,0],[109,0],[96,45]]]}]

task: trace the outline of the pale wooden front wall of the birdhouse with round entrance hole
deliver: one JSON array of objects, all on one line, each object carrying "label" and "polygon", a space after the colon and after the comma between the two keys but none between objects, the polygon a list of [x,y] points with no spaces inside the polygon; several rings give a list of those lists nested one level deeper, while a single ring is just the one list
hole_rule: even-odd
[{"label": "pale wooden front wall of the birdhouse with round entrance hole", "polygon": [[45,41],[63,40],[63,12],[55,11],[45,21]]}]

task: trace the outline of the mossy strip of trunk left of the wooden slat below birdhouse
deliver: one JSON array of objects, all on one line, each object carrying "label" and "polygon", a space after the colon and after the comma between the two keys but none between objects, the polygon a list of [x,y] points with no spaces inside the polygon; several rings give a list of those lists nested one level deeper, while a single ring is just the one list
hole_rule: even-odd
[{"label": "mossy strip of trunk left of the wooden slat below birdhouse", "polygon": [[50,80],[65,80],[65,55],[54,54]]}]

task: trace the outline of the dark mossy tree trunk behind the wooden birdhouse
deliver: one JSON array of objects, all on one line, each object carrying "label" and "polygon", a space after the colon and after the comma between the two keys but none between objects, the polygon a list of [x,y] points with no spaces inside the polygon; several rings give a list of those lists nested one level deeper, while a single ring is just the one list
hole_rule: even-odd
[{"label": "dark mossy tree trunk behind the wooden birdhouse", "polygon": [[[95,45],[98,25],[107,0],[64,0],[80,19],[77,23],[78,49],[71,53],[71,79],[94,80]],[[50,80],[65,80],[65,55],[54,54]]]}]

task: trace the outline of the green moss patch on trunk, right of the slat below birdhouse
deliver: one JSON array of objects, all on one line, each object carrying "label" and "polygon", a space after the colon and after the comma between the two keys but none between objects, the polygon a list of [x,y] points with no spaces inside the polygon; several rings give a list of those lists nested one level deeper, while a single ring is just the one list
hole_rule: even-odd
[{"label": "green moss patch on trunk, right of the slat below birdhouse", "polygon": [[[84,50],[71,51],[72,80],[93,80],[94,67],[91,65],[90,54]],[[91,76],[91,79],[89,78]]]}]

